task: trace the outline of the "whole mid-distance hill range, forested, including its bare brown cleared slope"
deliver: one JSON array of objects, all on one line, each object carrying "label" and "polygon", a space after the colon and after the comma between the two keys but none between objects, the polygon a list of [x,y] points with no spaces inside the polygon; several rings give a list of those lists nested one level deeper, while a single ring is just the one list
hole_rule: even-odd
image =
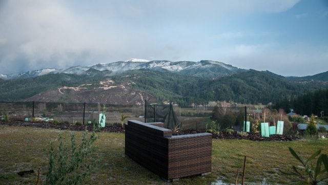
[{"label": "whole mid-distance hill range, forested, including its bare brown cleared slope", "polygon": [[214,79],[186,78],[174,72],[150,69],[129,70],[116,76],[108,76],[108,73],[111,71],[91,68],[83,75],[56,73],[3,80],[0,81],[3,89],[0,101],[142,104],[146,97],[156,103],[171,100],[182,106],[223,100],[267,104],[327,87],[293,82],[270,71],[253,69]]}]

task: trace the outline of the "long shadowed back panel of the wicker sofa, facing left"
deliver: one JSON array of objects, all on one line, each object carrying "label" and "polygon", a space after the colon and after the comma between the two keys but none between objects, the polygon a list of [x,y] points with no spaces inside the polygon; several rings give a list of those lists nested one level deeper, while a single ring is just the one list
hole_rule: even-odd
[{"label": "long shadowed back panel of the wicker sofa, facing left", "polygon": [[172,131],[136,120],[125,125],[125,154],[161,177],[168,176],[168,138]]}]

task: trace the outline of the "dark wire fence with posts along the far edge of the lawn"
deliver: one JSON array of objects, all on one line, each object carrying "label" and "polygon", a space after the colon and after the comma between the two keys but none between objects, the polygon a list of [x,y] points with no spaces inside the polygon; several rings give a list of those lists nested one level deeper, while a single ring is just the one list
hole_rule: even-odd
[{"label": "dark wire fence with posts along the far edge of the lawn", "polygon": [[[57,120],[60,123],[88,124],[99,120],[99,114],[106,111],[106,125],[118,125],[121,117],[125,120],[143,122],[164,122],[166,127],[178,125],[182,129],[202,130],[211,127],[213,106],[178,106],[172,104],[112,105],[100,103],[59,103],[59,102],[0,102],[0,112],[8,113],[12,121],[26,118]],[[238,120],[233,120],[234,130],[244,121],[244,107],[227,107]],[[221,118],[220,118],[221,119]],[[222,117],[222,119],[224,119]],[[229,120],[227,120],[229,121]]]}]

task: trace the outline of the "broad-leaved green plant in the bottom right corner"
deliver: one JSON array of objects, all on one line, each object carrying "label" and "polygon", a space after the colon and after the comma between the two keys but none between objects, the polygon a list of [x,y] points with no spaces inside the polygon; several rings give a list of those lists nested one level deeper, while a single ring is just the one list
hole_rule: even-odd
[{"label": "broad-leaved green plant in the bottom right corner", "polygon": [[[319,184],[319,182],[327,182],[328,180],[328,157],[326,154],[321,154],[318,157],[318,160],[316,162],[316,167],[313,167],[313,165],[310,164],[310,161],[317,157],[321,150],[318,150],[315,152],[311,157],[309,157],[308,160],[305,160],[302,156],[299,156],[292,147],[288,147],[291,154],[302,163],[302,166],[295,167],[293,165],[292,169],[289,172],[283,172],[280,170],[282,174],[285,175],[292,175],[292,176],[298,176],[302,180],[292,180],[291,183],[306,183],[306,184]],[[323,163],[324,169],[321,170],[321,165]]]}]

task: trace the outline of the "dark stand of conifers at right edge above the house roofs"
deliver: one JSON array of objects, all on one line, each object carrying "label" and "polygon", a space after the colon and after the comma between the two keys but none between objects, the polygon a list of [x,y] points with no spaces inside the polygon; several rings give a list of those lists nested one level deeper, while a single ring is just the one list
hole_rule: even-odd
[{"label": "dark stand of conifers at right edge above the house roofs", "polygon": [[291,109],[294,113],[299,115],[312,114],[321,116],[321,111],[323,111],[323,116],[328,114],[328,88],[318,89],[293,97],[291,99],[284,98],[275,104],[276,108],[283,108],[287,113]]}]

